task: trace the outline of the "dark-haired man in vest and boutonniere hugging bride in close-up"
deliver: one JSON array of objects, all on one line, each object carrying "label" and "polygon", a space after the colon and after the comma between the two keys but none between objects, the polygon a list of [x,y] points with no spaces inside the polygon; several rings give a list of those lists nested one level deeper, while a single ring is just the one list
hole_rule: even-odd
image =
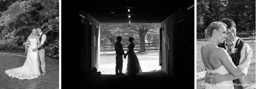
[{"label": "dark-haired man in vest and boutonniere hugging bride in close-up", "polygon": [[[228,51],[229,56],[231,56],[235,66],[238,66],[245,59],[245,49],[247,48],[250,50],[250,46],[236,36],[236,25],[233,20],[225,18],[225,19],[222,19],[221,22],[225,23],[228,26],[227,32],[226,32],[227,37],[226,37],[226,40],[223,43],[220,43],[218,46],[226,49],[226,51]],[[230,53],[232,48],[237,48],[237,52]],[[250,67],[250,63],[251,63],[251,60],[248,62],[247,66],[242,71],[242,73],[237,77],[234,77],[230,73],[225,75],[221,75],[218,73],[217,74],[214,73],[213,75],[208,75],[206,73],[204,79],[207,83],[209,83],[208,81],[211,81],[211,80],[213,80],[211,83],[213,82],[221,83],[226,80],[233,80],[233,83],[235,84],[234,89],[246,88],[247,86],[243,87],[242,84],[247,84],[245,77],[247,75],[247,70]]]}]

